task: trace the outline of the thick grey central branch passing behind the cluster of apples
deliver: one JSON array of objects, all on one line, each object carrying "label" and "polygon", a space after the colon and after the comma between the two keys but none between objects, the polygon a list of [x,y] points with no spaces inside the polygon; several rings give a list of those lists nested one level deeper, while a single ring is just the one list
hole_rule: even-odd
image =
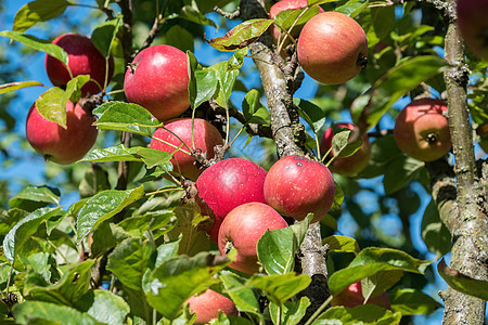
[{"label": "thick grey central branch passing behind the cluster of apples", "polygon": [[[259,0],[242,0],[243,20],[267,17],[264,3]],[[283,61],[273,50],[271,36],[266,32],[249,46],[253,60],[259,70],[271,114],[271,131],[279,157],[304,155],[305,128],[299,122],[298,113],[293,105],[294,81],[290,72],[284,72]],[[320,223],[310,225],[300,247],[300,269],[312,277],[312,283],[304,294],[312,304],[307,314],[313,313],[330,296],[324,250],[321,242]]]}]

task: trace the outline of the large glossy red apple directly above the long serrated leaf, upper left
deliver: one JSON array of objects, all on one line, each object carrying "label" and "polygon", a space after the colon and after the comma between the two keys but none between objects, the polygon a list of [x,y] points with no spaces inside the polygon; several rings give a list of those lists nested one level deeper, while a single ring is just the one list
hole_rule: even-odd
[{"label": "large glossy red apple directly above the long serrated leaf, upper left", "polygon": [[151,112],[158,120],[180,116],[190,106],[187,54],[171,46],[142,50],[124,80],[127,100]]}]

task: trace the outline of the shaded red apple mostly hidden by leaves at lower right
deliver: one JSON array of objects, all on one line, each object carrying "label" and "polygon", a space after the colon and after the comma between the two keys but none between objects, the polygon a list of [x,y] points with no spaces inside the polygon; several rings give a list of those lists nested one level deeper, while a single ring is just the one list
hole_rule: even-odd
[{"label": "shaded red apple mostly hidden by leaves at lower right", "polygon": [[[376,297],[370,297],[367,303],[376,304],[384,307],[385,309],[391,309],[389,302],[388,294],[383,292]],[[335,297],[332,298],[332,306],[344,306],[348,308],[354,308],[357,306],[364,304],[364,297],[362,296],[361,281],[351,284],[346,289],[342,290]]]}]

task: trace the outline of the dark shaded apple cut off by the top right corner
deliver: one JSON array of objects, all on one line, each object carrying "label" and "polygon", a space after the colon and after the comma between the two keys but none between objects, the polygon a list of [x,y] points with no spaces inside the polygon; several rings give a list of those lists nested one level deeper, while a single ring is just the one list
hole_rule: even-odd
[{"label": "dark shaded apple cut off by the top right corner", "polygon": [[488,0],[458,0],[458,26],[466,46],[488,60]]}]

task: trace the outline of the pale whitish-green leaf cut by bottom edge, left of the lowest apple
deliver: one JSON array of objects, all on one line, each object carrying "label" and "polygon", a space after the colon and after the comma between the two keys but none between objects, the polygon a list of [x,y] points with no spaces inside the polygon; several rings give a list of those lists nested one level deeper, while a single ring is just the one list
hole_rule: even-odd
[{"label": "pale whitish-green leaf cut by bottom edge, left of the lowest apple", "polygon": [[127,302],[108,290],[91,290],[77,303],[77,309],[98,322],[110,325],[124,324],[130,312]]}]

